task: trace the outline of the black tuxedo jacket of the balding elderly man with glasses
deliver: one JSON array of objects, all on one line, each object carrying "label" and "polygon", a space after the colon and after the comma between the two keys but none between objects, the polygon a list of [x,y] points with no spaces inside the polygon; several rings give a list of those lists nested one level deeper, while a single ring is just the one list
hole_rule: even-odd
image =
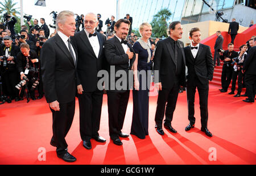
[{"label": "black tuxedo jacket of the balding elderly man with glasses", "polygon": [[104,70],[106,65],[104,54],[104,42],[106,37],[96,32],[100,43],[100,53],[95,55],[92,45],[84,30],[77,32],[72,37],[75,47],[77,48],[77,85],[82,84],[85,92],[94,92],[97,90],[98,71]]}]

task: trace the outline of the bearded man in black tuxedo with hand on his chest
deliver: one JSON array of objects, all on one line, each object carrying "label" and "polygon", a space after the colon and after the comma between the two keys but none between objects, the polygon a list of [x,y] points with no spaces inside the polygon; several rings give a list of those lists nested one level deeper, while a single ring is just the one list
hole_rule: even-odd
[{"label": "bearded man in black tuxedo with hand on his chest", "polygon": [[[133,79],[133,74],[129,75],[129,71],[135,61],[134,50],[126,40],[129,27],[128,20],[119,19],[114,26],[115,36],[106,40],[104,44],[109,73],[109,80],[105,82],[108,94],[109,135],[116,145],[122,145],[119,137],[127,138],[129,136],[121,131],[130,96],[129,80]],[[122,72],[125,75],[117,76],[117,72]],[[122,81],[123,76],[127,76],[124,81]],[[131,86],[133,87],[133,83]]]}]

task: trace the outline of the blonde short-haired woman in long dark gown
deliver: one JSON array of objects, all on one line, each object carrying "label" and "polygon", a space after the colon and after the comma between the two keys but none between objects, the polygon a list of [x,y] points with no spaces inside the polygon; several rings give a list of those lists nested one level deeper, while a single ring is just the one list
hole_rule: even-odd
[{"label": "blonde short-haired woman in long dark gown", "polygon": [[148,93],[150,89],[150,70],[152,70],[152,49],[149,38],[152,35],[152,27],[148,23],[142,23],[139,27],[142,38],[136,41],[133,49],[136,59],[133,65],[134,90],[133,90],[133,122],[131,134],[140,139],[148,135]]}]

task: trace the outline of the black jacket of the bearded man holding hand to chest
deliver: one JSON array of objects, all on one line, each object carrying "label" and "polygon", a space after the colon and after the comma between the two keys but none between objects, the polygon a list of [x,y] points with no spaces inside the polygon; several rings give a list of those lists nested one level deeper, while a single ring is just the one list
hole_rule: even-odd
[{"label": "black jacket of the bearded man holding hand to chest", "polygon": [[[133,66],[133,63],[135,61],[136,55],[133,50],[133,47],[131,44],[127,43],[127,46],[130,48],[130,51],[134,53],[133,59],[130,59],[130,66],[129,66],[129,57],[123,50],[123,47],[121,45],[121,42],[118,40],[116,36],[113,38],[110,38],[109,40],[106,40],[104,43],[105,46],[105,57],[107,61],[107,71],[109,73],[109,85],[105,83],[105,89],[107,91],[114,91],[114,92],[125,92],[126,90],[133,87],[129,86],[129,79],[132,79],[133,74],[129,75],[129,70],[131,70],[131,67]],[[114,90],[110,90],[110,84],[115,84],[121,77],[114,76],[114,80],[111,81],[111,75],[110,75],[110,66],[115,66],[115,73],[119,70],[123,70],[126,72],[127,75],[127,88],[126,90],[117,90],[116,88]],[[130,72],[131,73],[131,72]],[[132,78],[131,78],[132,77]]]}]

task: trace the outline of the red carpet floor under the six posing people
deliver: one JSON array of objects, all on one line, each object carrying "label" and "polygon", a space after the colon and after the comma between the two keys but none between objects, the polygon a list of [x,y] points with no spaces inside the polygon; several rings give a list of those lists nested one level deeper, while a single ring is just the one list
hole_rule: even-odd
[{"label": "red carpet floor under the six posing people", "polygon": [[[68,151],[77,158],[72,164],[256,164],[256,104],[242,102],[228,93],[221,94],[210,85],[208,128],[213,137],[200,131],[199,97],[196,95],[196,127],[186,132],[187,99],[181,93],[177,101],[172,126],[177,134],[166,129],[164,136],[155,131],[157,97],[150,97],[149,136],[141,140],[130,135],[121,139],[123,145],[114,145],[108,132],[108,106],[104,95],[100,135],[105,144],[92,140],[92,149],[82,147],[79,134],[79,104],[71,130],[67,135]],[[123,132],[130,133],[133,113],[132,94],[127,108]],[[49,144],[52,136],[52,116],[46,100],[25,100],[0,105],[0,164],[68,164],[57,158],[55,148]],[[39,161],[42,150],[46,161]],[[216,161],[210,161],[211,148]],[[38,159],[39,158],[39,159]]]}]

